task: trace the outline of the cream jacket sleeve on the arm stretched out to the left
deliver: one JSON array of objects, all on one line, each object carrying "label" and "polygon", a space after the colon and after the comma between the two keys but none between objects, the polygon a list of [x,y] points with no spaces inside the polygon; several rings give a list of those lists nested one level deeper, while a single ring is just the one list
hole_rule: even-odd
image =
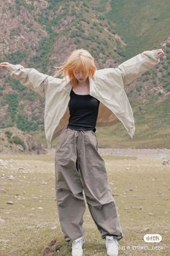
[{"label": "cream jacket sleeve on the arm stretched out to the left", "polygon": [[36,93],[39,93],[42,96],[45,96],[45,92],[51,80],[56,80],[56,84],[61,80],[48,76],[48,74],[42,74],[36,69],[24,68],[20,64],[7,64],[7,70],[10,72],[12,78],[19,80],[22,85],[30,88],[31,90],[35,90]]}]

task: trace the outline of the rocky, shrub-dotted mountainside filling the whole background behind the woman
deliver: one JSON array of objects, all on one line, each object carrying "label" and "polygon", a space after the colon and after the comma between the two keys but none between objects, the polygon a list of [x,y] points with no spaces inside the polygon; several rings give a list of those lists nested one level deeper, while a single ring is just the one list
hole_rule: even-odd
[{"label": "rocky, shrub-dotted mountainside filling the whole background behind the woman", "polygon": [[[165,138],[169,136],[169,5],[168,1],[163,1],[160,6],[158,0],[154,4],[146,0],[132,0],[128,4],[124,0],[15,0],[10,3],[3,0],[0,5],[3,20],[0,24],[0,62],[22,64],[53,75],[54,67],[75,48],[90,51],[100,69],[116,67],[146,49],[163,47],[166,56],[161,64],[126,90],[139,127],[134,146],[143,147],[149,129],[152,129],[156,141],[153,142],[151,136],[149,146],[169,147],[168,142],[164,145],[160,137],[162,130],[166,131]],[[152,12],[146,12],[151,9]],[[0,72],[0,82],[0,128],[18,127],[45,142],[44,99],[3,72]],[[153,111],[155,109],[158,112]],[[157,116],[159,121],[155,122]],[[146,122],[148,128],[145,128]],[[166,129],[162,124],[166,124]],[[99,129],[100,146],[113,146],[114,142],[120,146],[131,143],[120,124],[109,135],[108,131]],[[111,144],[105,134],[111,136]]]}]

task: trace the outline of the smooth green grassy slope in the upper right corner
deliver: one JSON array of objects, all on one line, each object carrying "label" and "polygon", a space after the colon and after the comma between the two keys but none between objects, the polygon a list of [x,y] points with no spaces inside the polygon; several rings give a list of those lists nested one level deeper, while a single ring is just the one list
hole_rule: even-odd
[{"label": "smooth green grassy slope in the upper right corner", "polygon": [[106,18],[115,22],[117,33],[128,43],[125,53],[127,58],[158,47],[168,38],[168,0],[111,1],[111,7]]}]

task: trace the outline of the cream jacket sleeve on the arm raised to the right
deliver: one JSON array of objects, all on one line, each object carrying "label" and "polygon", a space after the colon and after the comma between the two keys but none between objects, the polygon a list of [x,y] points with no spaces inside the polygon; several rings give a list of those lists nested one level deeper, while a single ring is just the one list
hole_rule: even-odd
[{"label": "cream jacket sleeve on the arm raised to the right", "polygon": [[152,69],[159,62],[159,56],[156,50],[143,51],[128,61],[120,64],[117,69],[120,69],[124,85],[128,85],[133,80],[140,77],[144,72]]}]

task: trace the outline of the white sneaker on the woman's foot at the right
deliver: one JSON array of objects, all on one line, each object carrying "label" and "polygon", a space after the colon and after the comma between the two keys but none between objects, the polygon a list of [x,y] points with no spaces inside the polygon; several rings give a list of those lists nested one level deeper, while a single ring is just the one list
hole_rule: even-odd
[{"label": "white sneaker on the woman's foot at the right", "polygon": [[107,248],[107,255],[117,256],[118,255],[117,239],[114,239],[113,236],[106,236],[106,248]]}]

